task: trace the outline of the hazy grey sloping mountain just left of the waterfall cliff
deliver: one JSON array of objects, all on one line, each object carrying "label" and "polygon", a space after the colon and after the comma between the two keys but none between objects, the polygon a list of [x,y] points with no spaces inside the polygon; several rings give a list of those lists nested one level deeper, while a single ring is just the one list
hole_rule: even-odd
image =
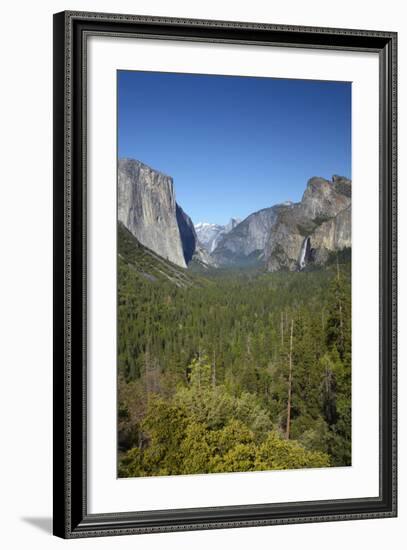
[{"label": "hazy grey sloping mountain just left of the waterfall cliff", "polygon": [[279,209],[280,205],[276,205],[250,214],[231,231],[221,235],[211,257],[223,266],[261,259]]}]

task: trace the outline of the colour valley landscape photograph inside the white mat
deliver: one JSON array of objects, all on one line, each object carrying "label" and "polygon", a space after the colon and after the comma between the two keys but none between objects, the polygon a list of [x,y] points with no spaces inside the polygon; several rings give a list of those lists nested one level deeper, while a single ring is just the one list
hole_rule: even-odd
[{"label": "colour valley landscape photograph inside the white mat", "polygon": [[118,70],[117,477],[352,466],[352,83]]}]

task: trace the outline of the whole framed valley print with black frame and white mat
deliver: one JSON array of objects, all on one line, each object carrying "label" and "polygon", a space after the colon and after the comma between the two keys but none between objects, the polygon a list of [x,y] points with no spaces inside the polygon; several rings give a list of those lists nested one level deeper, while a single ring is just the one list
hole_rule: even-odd
[{"label": "whole framed valley print with black frame and white mat", "polygon": [[54,534],[396,515],[393,32],[54,16]]}]

